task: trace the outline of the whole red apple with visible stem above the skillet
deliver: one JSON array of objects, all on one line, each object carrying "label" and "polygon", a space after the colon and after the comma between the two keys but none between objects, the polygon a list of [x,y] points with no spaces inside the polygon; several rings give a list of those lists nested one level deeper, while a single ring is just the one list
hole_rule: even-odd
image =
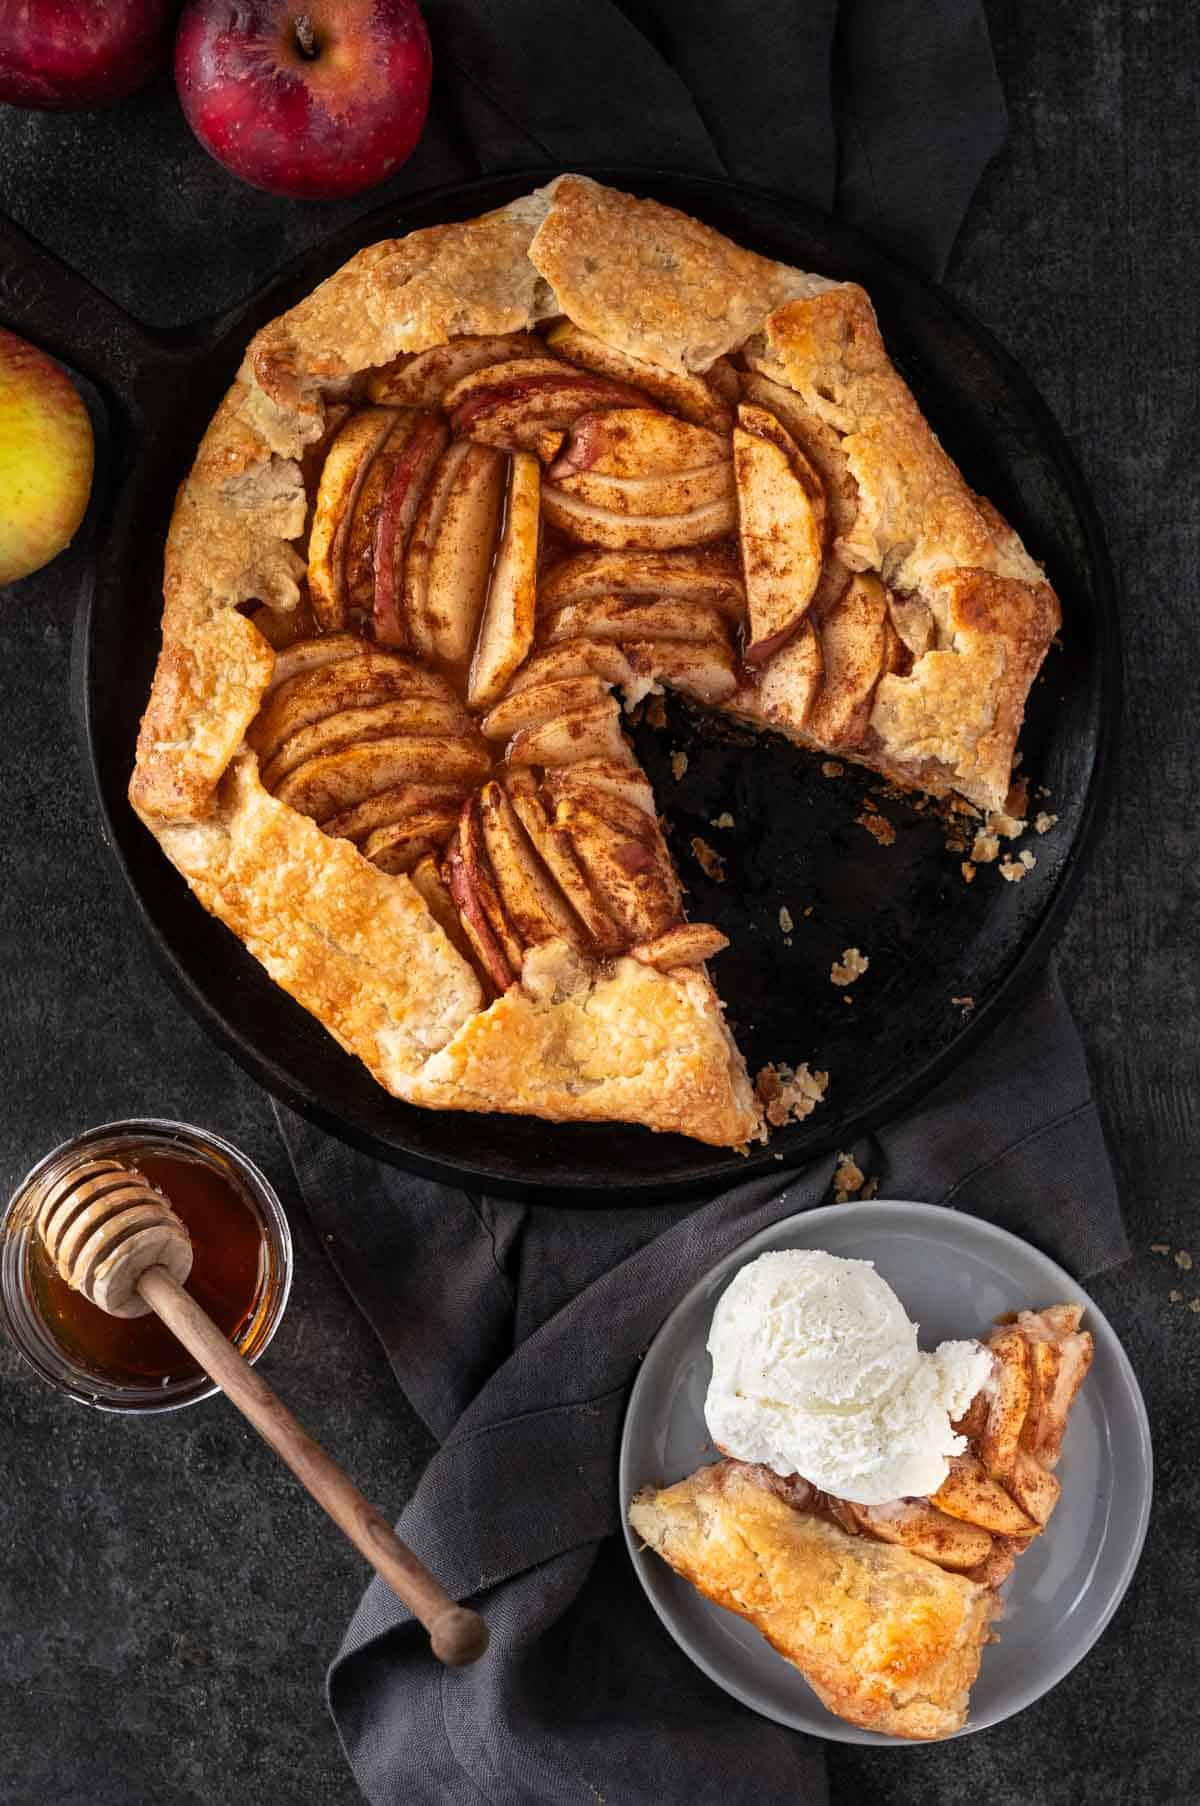
[{"label": "whole red apple with visible stem above the skillet", "polygon": [[356,195],[410,155],[430,47],[414,0],[188,0],[175,85],[217,163],[300,200]]}]

